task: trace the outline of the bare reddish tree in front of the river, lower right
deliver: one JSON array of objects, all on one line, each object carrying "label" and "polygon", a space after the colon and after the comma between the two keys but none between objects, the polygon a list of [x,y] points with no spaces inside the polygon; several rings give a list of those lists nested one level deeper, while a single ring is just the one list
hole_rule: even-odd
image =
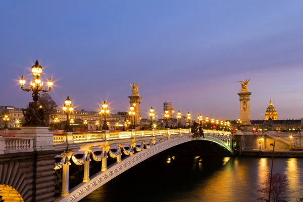
[{"label": "bare reddish tree in front of the river, lower right", "polygon": [[262,194],[260,198],[257,198],[259,201],[267,201],[267,202],[278,202],[284,201],[287,197],[286,188],[288,185],[288,180],[285,175],[280,173],[275,173],[272,176],[272,184],[271,184],[271,194],[270,201],[268,201],[269,197],[269,187],[270,187],[270,176],[267,175],[266,180],[262,183],[263,188],[258,189],[258,192]]}]

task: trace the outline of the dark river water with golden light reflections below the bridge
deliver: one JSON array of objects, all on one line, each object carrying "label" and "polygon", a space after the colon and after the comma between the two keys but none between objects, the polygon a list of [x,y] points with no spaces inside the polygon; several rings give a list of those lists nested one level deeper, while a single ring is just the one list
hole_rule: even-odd
[{"label": "dark river water with golden light reflections below the bridge", "polygon": [[[271,158],[155,156],[81,201],[256,201]],[[303,159],[275,158],[289,180],[287,201],[303,197]]]}]

